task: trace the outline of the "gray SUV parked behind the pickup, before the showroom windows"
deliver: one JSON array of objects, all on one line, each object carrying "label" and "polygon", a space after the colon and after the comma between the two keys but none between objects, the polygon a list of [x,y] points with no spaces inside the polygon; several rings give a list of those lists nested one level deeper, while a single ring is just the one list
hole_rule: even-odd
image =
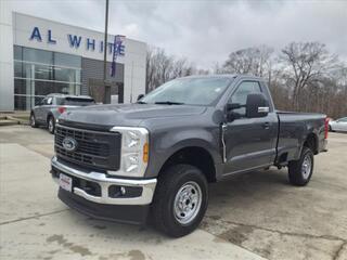
[{"label": "gray SUV parked behind the pickup, before the showroom windows", "polygon": [[94,105],[88,95],[49,94],[30,112],[30,126],[37,128],[47,126],[50,133],[54,133],[55,120],[67,109],[77,106]]}]

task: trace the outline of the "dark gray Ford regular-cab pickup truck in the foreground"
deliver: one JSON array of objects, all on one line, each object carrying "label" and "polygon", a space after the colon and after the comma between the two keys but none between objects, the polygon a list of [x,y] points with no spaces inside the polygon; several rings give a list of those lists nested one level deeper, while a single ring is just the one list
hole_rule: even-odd
[{"label": "dark gray Ford regular-cab pickup truck in the foreground", "polygon": [[209,183],[275,166],[306,185],[327,128],[324,115],[275,110],[261,78],[187,77],[136,104],[62,114],[51,173],[69,207],[179,237],[202,221]]}]

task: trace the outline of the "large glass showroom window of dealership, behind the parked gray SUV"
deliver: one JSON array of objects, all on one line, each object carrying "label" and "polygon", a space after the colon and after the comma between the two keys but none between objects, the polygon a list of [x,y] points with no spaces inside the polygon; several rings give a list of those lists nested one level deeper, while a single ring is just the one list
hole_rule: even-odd
[{"label": "large glass showroom window of dealership, behind the parked gray SUV", "polygon": [[14,46],[14,108],[28,110],[47,94],[80,94],[81,57]]}]

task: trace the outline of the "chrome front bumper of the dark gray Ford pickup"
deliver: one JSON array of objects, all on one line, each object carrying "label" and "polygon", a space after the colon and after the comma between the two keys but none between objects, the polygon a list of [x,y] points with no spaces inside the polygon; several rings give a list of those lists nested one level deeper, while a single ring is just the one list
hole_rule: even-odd
[{"label": "chrome front bumper of the dark gray Ford pickup", "polygon": [[[93,185],[98,185],[100,188],[100,194],[91,194],[87,186],[75,186],[73,184],[73,195],[82,197],[83,199],[103,205],[149,205],[152,203],[156,179],[149,180],[130,180],[130,179],[117,179],[110,178],[103,172],[87,172],[81,169],[72,168],[66,164],[62,164],[54,156],[51,160],[52,166],[52,178],[57,182],[59,174],[63,173],[73,178],[73,180],[78,182],[88,182]],[[73,182],[74,183],[74,182]],[[138,188],[138,194],[136,196],[128,196],[125,193],[124,195],[119,194],[116,197],[111,195],[113,187],[124,187],[131,190],[131,187]]]}]

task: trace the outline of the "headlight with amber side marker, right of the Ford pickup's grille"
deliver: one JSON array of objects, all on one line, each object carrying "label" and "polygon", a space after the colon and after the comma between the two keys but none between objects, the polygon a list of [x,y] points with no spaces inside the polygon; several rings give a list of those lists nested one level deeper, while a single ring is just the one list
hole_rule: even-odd
[{"label": "headlight with amber side marker, right of the Ford pickup's grille", "polygon": [[113,127],[121,134],[120,169],[114,176],[143,177],[149,161],[149,131],[138,127]]}]

